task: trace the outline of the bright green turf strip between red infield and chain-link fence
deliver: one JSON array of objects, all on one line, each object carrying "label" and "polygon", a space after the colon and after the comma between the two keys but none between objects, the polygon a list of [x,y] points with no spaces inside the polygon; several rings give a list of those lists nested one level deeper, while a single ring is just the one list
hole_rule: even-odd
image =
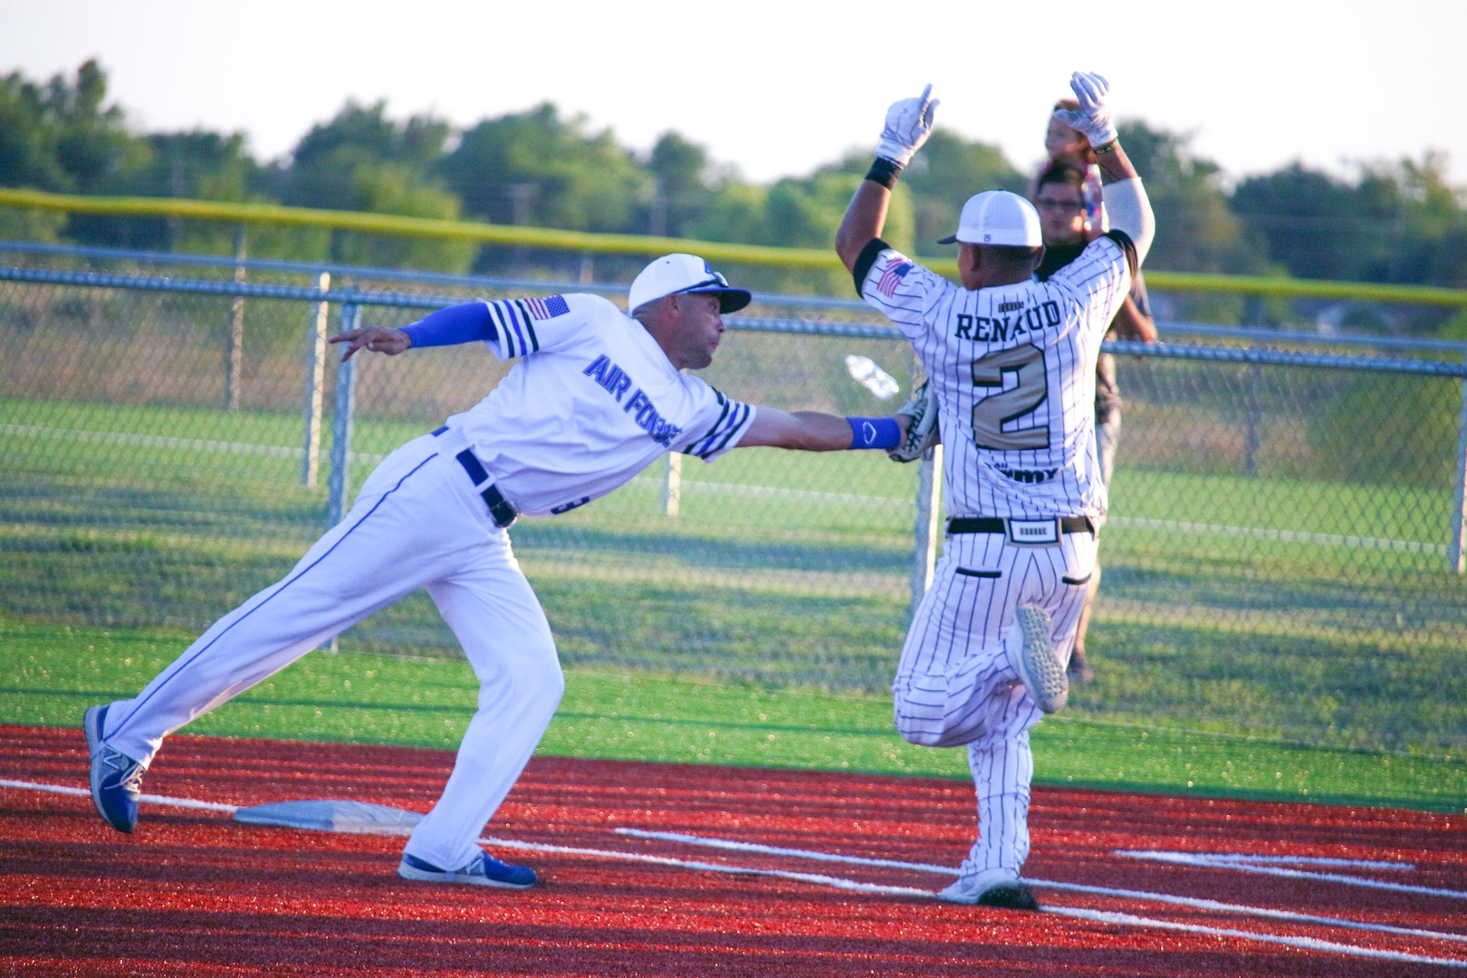
[{"label": "bright green turf strip between red infield and chain-link fence", "polygon": [[[0,619],[0,723],[79,727],[88,705],[135,695],[189,638]],[[475,692],[459,660],[318,651],[186,732],[452,749]],[[1461,757],[1331,751],[1078,713],[1049,717],[1031,736],[1042,784],[1467,812]],[[609,667],[566,670],[540,752],[968,777],[962,751],[902,742],[886,696]]]}]

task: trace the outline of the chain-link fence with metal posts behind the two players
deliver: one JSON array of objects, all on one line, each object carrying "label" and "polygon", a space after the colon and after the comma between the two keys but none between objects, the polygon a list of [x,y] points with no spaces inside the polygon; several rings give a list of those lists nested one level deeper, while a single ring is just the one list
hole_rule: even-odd
[{"label": "chain-link fence with metal posts behind the two players", "polygon": [[[241,284],[79,252],[0,270],[0,613],[57,623],[201,630],[288,570],[378,459],[506,369],[477,345],[358,358],[349,390],[323,343],[343,315],[402,326],[455,298],[566,286],[358,271],[348,292],[340,270],[326,283],[304,267]],[[760,296],[731,327],[701,375],[741,400],[889,412],[849,355],[895,377],[898,399],[912,384],[908,345],[851,302]],[[1460,685],[1467,368],[1361,356],[1347,339],[1207,339],[1108,346],[1125,406],[1097,628],[1157,655],[1213,642],[1250,661],[1281,644],[1389,661],[1446,650]],[[512,537],[568,663],[876,691],[929,559],[920,468],[673,456]],[[424,594],[342,642],[455,650]],[[1118,714],[1156,708],[1155,688],[1108,695]],[[1424,742],[1467,742],[1460,717],[1444,723]]]}]

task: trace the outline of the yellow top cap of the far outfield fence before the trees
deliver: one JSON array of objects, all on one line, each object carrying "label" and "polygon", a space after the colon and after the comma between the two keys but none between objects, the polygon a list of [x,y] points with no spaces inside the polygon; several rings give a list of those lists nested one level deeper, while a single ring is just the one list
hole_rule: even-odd
[{"label": "yellow top cap of the far outfield fence before the trees", "polygon": [[[75,194],[0,188],[0,207],[28,207],[69,214],[113,214],[119,217],[188,217],[232,224],[330,227],[367,235],[408,235],[415,238],[475,240],[490,245],[522,245],[597,255],[663,255],[673,251],[684,251],[701,255],[710,261],[745,265],[841,268],[841,260],[836,257],[833,248],[770,248],[766,245],[735,245],[716,240],[689,240],[685,238],[604,235],[556,230],[552,227],[490,224],[486,221],[403,217],[399,214],[327,211],[310,207],[283,207],[280,204],[191,201],[172,196],[81,196]],[[923,264],[945,276],[955,277],[958,271],[956,261],[951,258],[924,258]],[[1266,279],[1262,276],[1153,270],[1147,270],[1146,282],[1155,289],[1174,292],[1229,292],[1279,298],[1375,299],[1379,302],[1467,306],[1467,289],[1442,289],[1435,286]]]}]

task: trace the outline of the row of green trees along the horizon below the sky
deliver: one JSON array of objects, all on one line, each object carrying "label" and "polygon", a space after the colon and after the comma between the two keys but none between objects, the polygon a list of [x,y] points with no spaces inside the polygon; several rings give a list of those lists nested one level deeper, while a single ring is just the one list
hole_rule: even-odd
[{"label": "row of green trees along the horizon below the sky", "polygon": [[[1448,182],[1441,154],[1366,164],[1354,179],[1295,163],[1232,182],[1182,133],[1133,120],[1121,135],[1157,213],[1149,267],[1467,286],[1467,195]],[[19,72],[0,81],[0,185],[70,194],[829,248],[867,164],[858,152],[764,185],[742,179],[678,132],[637,152],[610,129],[566,117],[550,103],[458,130],[431,114],[395,119],[381,101],[349,101],[314,125],[289,157],[260,161],[244,133],[136,132],[126,110],[109,104],[107,75],[95,60],[45,82]],[[1025,192],[1031,177],[996,147],[939,129],[898,185],[889,238],[918,255],[946,255],[951,248],[933,242],[951,233],[970,194]],[[232,233],[198,221],[0,208],[4,238],[217,254],[229,251]],[[249,251],[480,273],[527,261],[511,248],[295,229],[252,229]],[[811,283],[807,276],[783,284]]]}]

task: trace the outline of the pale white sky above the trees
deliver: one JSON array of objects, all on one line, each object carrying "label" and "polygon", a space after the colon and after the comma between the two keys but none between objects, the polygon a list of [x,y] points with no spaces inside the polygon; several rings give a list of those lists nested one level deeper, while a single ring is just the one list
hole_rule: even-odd
[{"label": "pale white sky above the trees", "polygon": [[142,130],[244,130],[268,160],[348,98],[471,125],[553,101],[647,150],[676,129],[754,180],[874,147],[933,82],[939,125],[1028,167],[1072,69],[1241,177],[1446,151],[1467,183],[1464,0],[1190,4],[0,0],[0,73],[97,57]]}]

